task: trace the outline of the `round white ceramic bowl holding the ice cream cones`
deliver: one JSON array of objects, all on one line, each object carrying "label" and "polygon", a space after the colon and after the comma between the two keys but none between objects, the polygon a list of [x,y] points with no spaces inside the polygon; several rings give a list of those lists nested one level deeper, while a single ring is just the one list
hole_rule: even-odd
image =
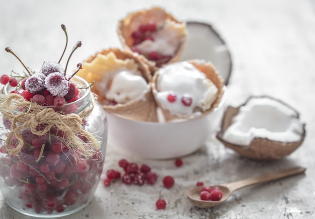
[{"label": "round white ceramic bowl holding the ice cream cones", "polygon": [[227,98],[209,114],[183,122],[157,123],[129,120],[107,114],[108,144],[139,157],[167,159],[191,154],[219,128]]}]

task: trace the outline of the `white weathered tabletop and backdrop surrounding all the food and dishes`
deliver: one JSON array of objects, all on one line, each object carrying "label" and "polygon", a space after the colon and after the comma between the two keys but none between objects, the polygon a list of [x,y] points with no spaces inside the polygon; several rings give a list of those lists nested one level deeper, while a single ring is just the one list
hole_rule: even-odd
[{"label": "white weathered tabletop and backdrop surrounding all the food and dishes", "polygon": [[[293,106],[306,123],[306,138],[294,153],[278,161],[242,158],[215,139],[198,152],[174,160],[143,160],[107,148],[105,170],[127,158],[147,163],[159,175],[173,175],[171,189],[100,182],[95,198],[83,210],[63,217],[83,218],[314,218],[315,217],[315,1],[314,0],[124,0],[124,1],[7,1],[0,7],[1,74],[23,68],[4,51],[10,46],[34,70],[43,61],[57,60],[64,45],[60,24],[67,27],[69,45],[83,42],[70,66],[107,47],[120,47],[117,21],[126,13],[159,5],[180,20],[210,23],[230,49],[233,71],[228,104],[242,104],[251,95],[270,95]],[[241,189],[223,205],[200,209],[186,191],[201,180],[207,184],[240,180],[272,170],[304,166],[298,175]],[[104,176],[103,176],[104,178]],[[155,209],[162,196],[164,210]],[[0,195],[0,218],[30,219],[11,209]]]}]

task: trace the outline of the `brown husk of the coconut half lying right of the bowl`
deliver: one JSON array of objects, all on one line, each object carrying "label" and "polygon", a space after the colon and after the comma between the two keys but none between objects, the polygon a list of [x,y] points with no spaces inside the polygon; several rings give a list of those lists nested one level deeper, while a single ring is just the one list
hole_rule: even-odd
[{"label": "brown husk of the coconut half lying right of the bowl", "polygon": [[224,132],[232,124],[232,119],[239,113],[240,107],[234,108],[228,106],[226,108],[221,123],[221,130],[217,133],[216,138],[220,140],[226,147],[233,149],[241,156],[255,160],[277,160],[291,154],[302,144],[306,133],[305,124],[303,124],[303,133],[301,138],[296,142],[280,142],[273,141],[268,138],[254,138],[250,145],[241,146],[225,141],[223,139]]}]

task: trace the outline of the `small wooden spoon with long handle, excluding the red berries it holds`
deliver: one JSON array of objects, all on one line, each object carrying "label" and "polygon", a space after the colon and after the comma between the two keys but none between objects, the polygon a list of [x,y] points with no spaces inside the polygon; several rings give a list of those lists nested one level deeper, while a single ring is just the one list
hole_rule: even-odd
[{"label": "small wooden spoon with long handle, excluding the red berries it holds", "polygon": [[200,199],[200,191],[201,191],[201,188],[204,186],[197,186],[197,187],[192,188],[191,190],[189,190],[187,192],[187,197],[189,198],[189,200],[194,205],[196,205],[198,207],[202,207],[202,208],[213,207],[213,206],[222,204],[235,190],[238,190],[240,188],[243,188],[243,187],[249,186],[249,185],[268,182],[268,181],[272,181],[275,179],[280,179],[280,178],[284,178],[287,176],[300,174],[300,173],[305,172],[305,170],[306,170],[306,168],[294,167],[294,168],[279,170],[279,171],[272,172],[272,173],[263,174],[261,176],[248,178],[248,179],[244,179],[244,180],[240,180],[240,181],[236,181],[236,182],[230,182],[230,183],[225,183],[225,184],[221,184],[221,185],[213,185],[211,187],[217,186],[221,189],[221,191],[223,193],[223,196],[219,201],[201,200]]}]

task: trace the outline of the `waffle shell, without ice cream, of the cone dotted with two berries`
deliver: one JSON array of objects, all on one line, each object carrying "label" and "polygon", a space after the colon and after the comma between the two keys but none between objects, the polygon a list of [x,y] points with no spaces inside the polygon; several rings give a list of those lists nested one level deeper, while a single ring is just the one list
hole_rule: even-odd
[{"label": "waffle shell, without ice cream, of the cone dotted with two berries", "polygon": [[[200,117],[202,117],[210,113],[215,107],[219,105],[221,98],[223,96],[223,92],[224,92],[223,91],[224,82],[223,82],[222,77],[219,75],[215,67],[210,62],[201,61],[201,60],[189,60],[187,62],[191,63],[199,71],[204,73],[206,77],[210,79],[212,83],[216,86],[216,88],[218,89],[217,97],[214,100],[214,102],[211,104],[211,107],[207,109],[206,111],[201,112]],[[156,72],[153,75],[152,83],[151,83],[151,87],[153,91],[154,90],[156,91],[156,82],[157,82],[158,77],[159,77],[159,74]],[[161,108],[166,121],[170,121],[174,119],[190,119],[191,118],[190,115],[174,115],[168,109],[164,109],[159,102],[157,103],[157,105]]]}]

